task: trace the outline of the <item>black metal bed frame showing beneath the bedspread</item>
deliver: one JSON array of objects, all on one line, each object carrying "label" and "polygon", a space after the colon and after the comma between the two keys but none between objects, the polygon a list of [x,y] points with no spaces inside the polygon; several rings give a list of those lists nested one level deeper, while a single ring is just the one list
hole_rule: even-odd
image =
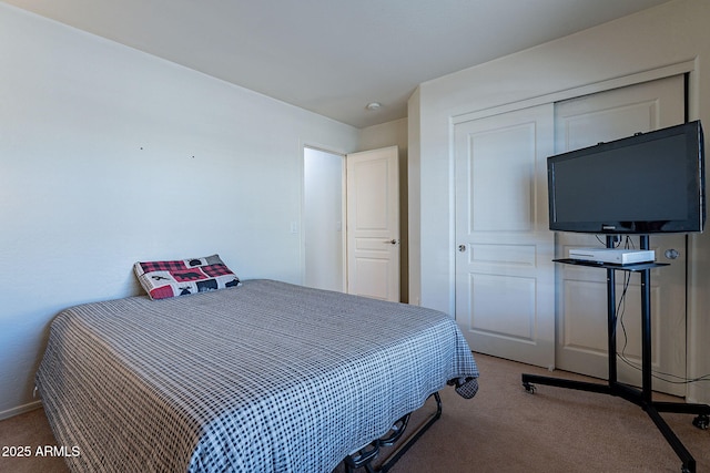
[{"label": "black metal bed frame showing beneath the bedspread", "polygon": [[[405,430],[407,429],[407,424],[409,422],[409,417],[412,413],[408,413],[397,420],[392,429],[385,434],[385,436],[374,440],[367,445],[363,446],[356,452],[351,453],[345,457],[345,471],[347,473],[354,473],[355,470],[364,467],[367,473],[385,473],[389,471],[394,466],[395,463],[404,455],[407,450],[412,445],[416,443],[417,440],[426,432],[434,422],[436,422],[442,417],[442,398],[438,392],[435,392],[430,397],[434,397],[436,400],[436,412],[430,414],[426,422],[419,425],[417,430],[415,430],[409,438],[405,442],[403,442],[397,449],[395,449],[389,456],[385,459],[385,461],[378,466],[373,466],[373,462],[377,459],[381,453],[381,449],[383,446],[393,446],[402,436],[404,435]],[[430,398],[429,397],[429,398]]]}]

